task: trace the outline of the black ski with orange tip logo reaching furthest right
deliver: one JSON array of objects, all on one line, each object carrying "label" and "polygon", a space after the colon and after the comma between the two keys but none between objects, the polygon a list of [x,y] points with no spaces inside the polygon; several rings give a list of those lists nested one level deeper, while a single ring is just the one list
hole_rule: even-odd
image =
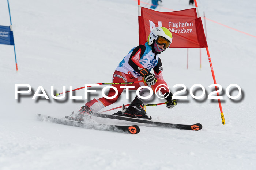
[{"label": "black ski with orange tip logo reaching furthest right", "polygon": [[144,123],[144,124],[150,124],[154,126],[162,126],[162,127],[170,127],[170,128],[176,128],[176,129],[184,129],[184,130],[201,130],[203,128],[202,124],[196,123],[192,125],[187,124],[174,124],[174,123],[164,123],[164,122],[155,122],[147,119],[141,119],[141,118],[131,118],[127,116],[118,116],[118,115],[108,115],[108,114],[102,114],[102,113],[94,113],[92,116],[100,117],[100,118],[108,118],[108,119],[117,119],[117,120],[125,120],[129,122],[136,122],[136,123]]}]

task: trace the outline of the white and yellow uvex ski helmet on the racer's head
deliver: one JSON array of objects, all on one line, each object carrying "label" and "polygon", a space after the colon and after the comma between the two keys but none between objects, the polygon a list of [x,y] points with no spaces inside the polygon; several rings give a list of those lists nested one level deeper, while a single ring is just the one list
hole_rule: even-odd
[{"label": "white and yellow uvex ski helmet on the racer's head", "polygon": [[[148,35],[148,39],[147,39],[148,45],[152,45],[154,39],[157,40],[158,36],[164,37],[165,39],[170,41],[170,44],[172,43],[173,36],[172,36],[172,33],[170,32],[170,30],[165,27],[156,27]],[[170,46],[170,44],[169,44],[169,46]]]}]

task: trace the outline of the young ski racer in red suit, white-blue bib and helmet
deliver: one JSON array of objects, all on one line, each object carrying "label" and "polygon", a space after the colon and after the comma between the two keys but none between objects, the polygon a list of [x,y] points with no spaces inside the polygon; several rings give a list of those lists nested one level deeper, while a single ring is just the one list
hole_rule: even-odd
[{"label": "young ski racer in red suit, white-blue bib and helmet", "polygon": [[[137,90],[140,86],[149,86],[152,88],[154,93],[159,90],[159,87],[164,87],[163,85],[167,86],[166,82],[163,80],[163,68],[159,54],[165,51],[171,43],[172,33],[169,29],[165,27],[156,27],[153,29],[148,36],[147,42],[143,45],[132,48],[132,50],[118,64],[112,80],[113,83],[127,83],[140,80],[144,80],[144,82],[127,85],[112,85],[118,90],[118,94],[114,99],[106,99],[104,97],[93,99],[82,106],[78,111],[78,114],[73,113],[71,116],[68,116],[68,119],[82,121],[85,115],[93,114],[102,108],[115,103],[124,90],[124,88],[120,88],[121,86],[134,86],[134,88],[129,88],[129,90]],[[150,72],[152,68],[155,74]],[[157,88],[157,86],[159,87]],[[162,94],[165,94],[165,99],[169,102],[167,103],[167,108],[173,108],[176,106],[176,100],[172,99],[172,93],[169,92],[166,87],[160,88],[160,91]],[[113,88],[110,88],[107,96],[112,97],[115,94],[116,91]],[[139,94],[143,97],[149,96],[150,90],[142,88]],[[141,99],[136,96],[129,107],[127,109],[123,107],[122,111],[118,112],[118,115],[147,118],[151,120],[151,117],[147,115],[143,107],[148,104],[152,98],[153,96],[148,99]]]}]

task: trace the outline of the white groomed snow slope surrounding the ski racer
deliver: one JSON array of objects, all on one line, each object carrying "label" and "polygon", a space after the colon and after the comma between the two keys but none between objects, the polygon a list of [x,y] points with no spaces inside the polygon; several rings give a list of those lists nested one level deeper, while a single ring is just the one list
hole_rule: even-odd
[{"label": "white groomed snow slope surrounding the ski racer", "polygon": [[[145,3],[142,6],[149,7]],[[256,36],[255,1],[199,0],[198,5],[201,16],[205,12],[210,20]],[[205,96],[213,90],[208,88],[213,80],[206,50],[202,49],[200,69],[199,49],[189,49],[187,69],[187,49],[169,48],[161,54],[163,76],[170,87],[184,84],[188,90],[183,95],[188,98],[178,100],[172,110],[162,105],[147,107],[147,112],[154,120],[201,123],[203,129],[140,126],[139,134],[129,135],[41,122],[36,114],[63,117],[88,101],[84,90],[74,93],[83,99],[54,100],[51,86],[62,92],[63,86],[111,82],[117,64],[138,45],[137,1],[11,0],[10,8],[19,72],[13,46],[0,45],[1,170],[256,169],[255,37],[206,20],[215,76],[223,87],[225,125],[216,99],[196,100],[189,95],[193,84],[202,84]],[[188,8],[192,6],[186,0],[163,0],[157,10]],[[0,25],[10,25],[7,1],[0,1],[0,16]],[[242,88],[238,99],[225,93],[233,83]],[[15,99],[15,84],[30,84],[33,93]],[[50,99],[32,99],[39,86]],[[97,94],[89,99],[100,97],[102,87],[95,88]],[[238,90],[230,93],[236,96]],[[131,92],[125,99],[124,92],[104,110],[128,104],[135,96]],[[152,103],[158,102],[162,101],[156,98]]]}]

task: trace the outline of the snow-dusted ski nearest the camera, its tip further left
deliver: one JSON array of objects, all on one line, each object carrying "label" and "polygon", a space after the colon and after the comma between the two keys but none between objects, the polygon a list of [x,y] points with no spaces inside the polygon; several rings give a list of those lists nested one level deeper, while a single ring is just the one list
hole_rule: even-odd
[{"label": "snow-dusted ski nearest the camera, its tip further left", "polygon": [[107,131],[117,131],[117,132],[125,132],[130,134],[137,134],[140,132],[140,128],[138,125],[132,126],[119,126],[119,125],[108,125],[108,124],[95,124],[95,123],[87,123],[87,122],[79,122],[75,120],[69,120],[67,118],[55,118],[52,116],[46,116],[42,114],[37,114],[41,121],[49,121],[57,124],[64,124],[69,126],[76,127],[85,127],[88,129],[97,129],[97,130],[107,130]]}]

